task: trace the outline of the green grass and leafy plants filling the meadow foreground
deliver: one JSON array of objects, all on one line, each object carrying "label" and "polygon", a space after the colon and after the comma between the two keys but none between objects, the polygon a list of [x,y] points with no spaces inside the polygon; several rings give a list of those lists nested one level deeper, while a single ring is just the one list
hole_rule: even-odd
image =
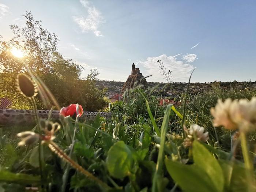
[{"label": "green grass and leafy plants filling the meadow foreground", "polygon": [[[108,119],[98,116],[94,121],[82,122],[62,117],[61,129],[51,141],[54,152],[48,141],[43,144],[42,176],[38,143],[17,147],[16,133],[33,128],[1,128],[1,187],[78,192],[254,191],[254,175],[244,168],[245,153],[239,143],[236,150],[231,148],[232,131],[212,126],[210,108],[218,98],[251,99],[255,92],[214,89],[187,94],[184,113],[183,106],[158,106],[157,97],[152,95],[154,89],[135,86],[127,90],[124,101],[112,105],[113,115]],[[207,143],[192,140],[193,147],[184,147],[182,119],[187,127],[203,126],[209,132]],[[195,135],[192,138],[196,140]],[[255,133],[246,135],[242,149],[248,150],[245,144],[252,147],[254,140]],[[254,157],[249,154],[246,162]],[[214,174],[208,167],[214,169]],[[22,180],[20,174],[27,180]],[[250,182],[241,180],[248,176]]]}]

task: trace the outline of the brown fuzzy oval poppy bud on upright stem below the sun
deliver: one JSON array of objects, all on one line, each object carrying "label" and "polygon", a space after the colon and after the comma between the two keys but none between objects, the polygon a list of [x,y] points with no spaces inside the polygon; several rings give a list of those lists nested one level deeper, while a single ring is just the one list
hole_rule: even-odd
[{"label": "brown fuzzy oval poppy bud on upright stem below the sun", "polygon": [[37,95],[37,86],[33,82],[33,80],[30,79],[29,76],[26,74],[18,74],[17,75],[17,85],[18,85],[18,90],[22,95],[25,97],[35,97]]}]

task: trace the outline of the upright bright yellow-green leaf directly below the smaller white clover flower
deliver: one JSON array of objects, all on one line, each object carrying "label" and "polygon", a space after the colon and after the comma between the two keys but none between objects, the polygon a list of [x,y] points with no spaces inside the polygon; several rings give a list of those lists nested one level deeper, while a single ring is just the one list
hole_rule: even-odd
[{"label": "upright bright yellow-green leaf directly below the smaller white clover flower", "polygon": [[192,154],[195,164],[208,174],[217,191],[223,191],[224,175],[217,159],[197,141],[193,142]]}]

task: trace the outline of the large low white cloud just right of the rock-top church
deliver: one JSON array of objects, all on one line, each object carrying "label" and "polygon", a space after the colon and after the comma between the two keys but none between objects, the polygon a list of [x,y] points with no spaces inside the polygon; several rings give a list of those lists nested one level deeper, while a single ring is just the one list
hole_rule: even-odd
[{"label": "large low white cloud just right of the rock-top church", "polygon": [[143,65],[143,67],[146,68],[147,74],[143,74],[144,76],[152,75],[152,77],[148,79],[149,81],[165,82],[164,77],[161,75],[161,69],[159,69],[157,64],[158,60],[161,60],[161,62],[165,65],[166,70],[172,71],[174,81],[188,80],[187,78],[195,68],[191,64],[178,61],[176,56],[166,56],[166,54],[162,54],[158,57],[148,57],[146,61],[136,61],[135,63]]}]

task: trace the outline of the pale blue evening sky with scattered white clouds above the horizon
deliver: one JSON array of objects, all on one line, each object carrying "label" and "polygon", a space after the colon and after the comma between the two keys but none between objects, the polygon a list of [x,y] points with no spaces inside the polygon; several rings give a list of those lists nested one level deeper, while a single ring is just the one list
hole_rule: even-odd
[{"label": "pale blue evening sky with scattered white clouds above the horizon", "polygon": [[148,82],[256,80],[255,0],[0,0],[0,35],[35,20],[60,39],[58,49],[100,80],[125,81],[132,63]]}]

